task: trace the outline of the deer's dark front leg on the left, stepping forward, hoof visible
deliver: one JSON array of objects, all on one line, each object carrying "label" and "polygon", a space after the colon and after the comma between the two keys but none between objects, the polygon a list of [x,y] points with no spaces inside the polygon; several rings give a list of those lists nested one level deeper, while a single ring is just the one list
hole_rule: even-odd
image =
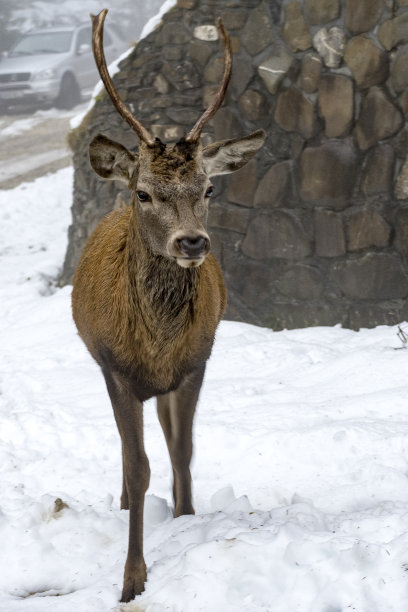
[{"label": "deer's dark front leg on the left, stepping forward, hoof visible", "polygon": [[[116,423],[122,439],[123,484],[129,504],[129,547],[121,601],[144,591],[143,508],[150,468],[143,443],[143,404],[126,387],[105,374]],[[123,502],[123,500],[122,500]]]}]

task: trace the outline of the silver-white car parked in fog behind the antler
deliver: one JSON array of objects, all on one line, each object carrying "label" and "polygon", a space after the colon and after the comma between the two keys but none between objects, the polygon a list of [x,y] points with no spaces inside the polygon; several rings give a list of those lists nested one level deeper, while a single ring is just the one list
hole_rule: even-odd
[{"label": "silver-white car parked in fog behind the antler", "polygon": [[[116,29],[106,26],[104,48],[108,63],[126,49]],[[90,25],[31,30],[0,61],[0,107],[35,103],[72,108],[98,78]]]}]

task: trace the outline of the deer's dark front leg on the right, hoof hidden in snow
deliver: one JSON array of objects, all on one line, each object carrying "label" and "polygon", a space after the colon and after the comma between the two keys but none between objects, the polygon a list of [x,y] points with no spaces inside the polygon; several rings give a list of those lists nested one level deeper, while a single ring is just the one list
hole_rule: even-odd
[{"label": "deer's dark front leg on the right, hoof hidden in snow", "polygon": [[174,516],[194,514],[190,461],[193,420],[205,372],[205,363],[190,373],[176,391],[157,398],[157,413],[173,467]]}]

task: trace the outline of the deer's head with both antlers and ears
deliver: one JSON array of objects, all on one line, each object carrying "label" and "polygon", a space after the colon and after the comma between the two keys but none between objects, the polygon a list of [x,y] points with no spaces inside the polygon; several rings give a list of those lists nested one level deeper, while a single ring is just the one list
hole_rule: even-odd
[{"label": "deer's head with both antlers and ears", "polygon": [[107,9],[94,17],[93,50],[105,88],[117,111],[140,139],[138,154],[99,134],[90,144],[93,169],[105,179],[124,181],[132,194],[140,234],[155,255],[174,259],[182,267],[199,266],[210,251],[206,231],[211,177],[242,168],[263,145],[263,130],[244,138],[224,140],[205,148],[200,142],[204,125],[221,106],[231,75],[232,54],[220,20],[225,44],[225,67],[220,88],[189,134],[174,146],[153,138],[132,115],[116,92],[103,53],[103,24]]}]

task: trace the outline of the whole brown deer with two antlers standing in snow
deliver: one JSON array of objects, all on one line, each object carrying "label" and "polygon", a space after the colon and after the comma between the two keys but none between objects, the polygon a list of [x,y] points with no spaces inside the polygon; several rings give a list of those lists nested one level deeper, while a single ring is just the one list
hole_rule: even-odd
[{"label": "whole brown deer with two antlers standing in snow", "polygon": [[139,138],[137,153],[98,134],[89,145],[93,170],[124,182],[130,205],[113,209],[91,234],[73,278],[79,336],[100,366],[119,430],[121,508],[129,510],[129,543],[121,601],[147,580],[143,508],[150,467],[143,442],[143,403],[157,414],[173,471],[174,516],[194,514],[190,462],[194,413],[215,332],[226,307],[222,272],[207,233],[210,178],[242,168],[265,140],[263,130],[203,147],[204,126],[223,102],[232,52],[224,43],[219,89],[187,136],[166,145],[130,112],[109,75],[103,51],[107,9],[92,19],[92,47],[118,113]]}]

